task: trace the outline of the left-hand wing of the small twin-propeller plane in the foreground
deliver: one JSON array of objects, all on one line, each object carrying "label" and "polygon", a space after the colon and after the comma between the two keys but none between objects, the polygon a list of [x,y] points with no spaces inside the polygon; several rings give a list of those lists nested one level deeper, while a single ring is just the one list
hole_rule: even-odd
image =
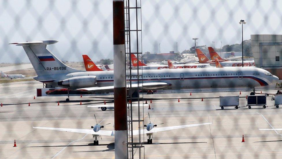
[{"label": "left-hand wing of the small twin-propeller plane in the foreground", "polygon": [[69,128],[55,128],[55,127],[33,127],[33,128],[57,130],[57,131],[68,131],[68,132],[76,132],[76,133],[83,133],[83,134],[114,136],[114,131],[109,131],[109,130],[99,130],[98,132],[95,132],[93,131],[93,129],[69,129]]}]

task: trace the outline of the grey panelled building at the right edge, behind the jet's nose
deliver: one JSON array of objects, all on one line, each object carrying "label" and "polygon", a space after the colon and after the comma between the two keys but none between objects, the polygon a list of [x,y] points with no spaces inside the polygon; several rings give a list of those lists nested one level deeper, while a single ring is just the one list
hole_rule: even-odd
[{"label": "grey panelled building at the right edge, behind the jet's nose", "polygon": [[251,35],[251,48],[256,67],[282,79],[282,35]]}]

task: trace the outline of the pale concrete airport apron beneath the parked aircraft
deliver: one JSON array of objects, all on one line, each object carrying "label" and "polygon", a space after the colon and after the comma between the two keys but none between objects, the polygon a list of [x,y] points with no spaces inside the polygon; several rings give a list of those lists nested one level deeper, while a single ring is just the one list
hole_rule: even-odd
[{"label": "pale concrete airport apron beneath the parked aircraft", "polygon": [[[42,87],[42,83],[0,84],[0,102],[3,103],[0,107],[0,158],[114,158],[112,136],[102,136],[99,145],[93,145],[92,135],[32,128],[34,125],[90,129],[96,124],[95,114],[98,122],[111,123],[103,130],[113,130],[113,110],[87,108],[87,105],[103,104],[103,100],[112,103],[113,95],[71,96],[67,103],[66,96],[33,99],[37,87]],[[262,92],[275,93],[276,90]],[[250,92],[241,93],[240,106],[244,106]],[[267,97],[266,109],[253,106],[252,109],[225,107],[221,110],[218,96],[222,95],[239,95],[239,92],[192,92],[192,96],[190,92],[144,94],[144,100],[152,108],[144,108],[144,124],[149,123],[148,112],[154,123],[164,123],[158,127],[213,122],[155,133],[153,144],[144,143],[145,158],[281,158],[282,131],[258,130],[258,127],[270,128],[270,125],[282,128],[282,109],[273,106],[271,95]],[[58,101],[60,106],[57,106]],[[137,129],[138,125],[134,127]],[[245,142],[241,142],[243,134]],[[17,147],[13,147],[14,140]],[[138,153],[135,155],[137,157]]]}]

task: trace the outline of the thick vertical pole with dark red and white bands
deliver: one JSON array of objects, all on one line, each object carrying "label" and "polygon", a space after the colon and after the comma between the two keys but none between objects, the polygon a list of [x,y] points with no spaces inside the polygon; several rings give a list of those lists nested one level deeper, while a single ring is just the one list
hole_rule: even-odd
[{"label": "thick vertical pole with dark red and white bands", "polygon": [[127,158],[124,1],[113,0],[115,158]]}]

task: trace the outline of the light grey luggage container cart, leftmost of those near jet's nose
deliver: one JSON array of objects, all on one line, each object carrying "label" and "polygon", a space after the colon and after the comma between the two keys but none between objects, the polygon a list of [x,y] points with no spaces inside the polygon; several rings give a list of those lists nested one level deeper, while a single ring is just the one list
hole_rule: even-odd
[{"label": "light grey luggage container cart, leftmost of those near jet's nose", "polygon": [[224,109],[224,107],[239,107],[239,96],[219,96],[219,107]]}]

